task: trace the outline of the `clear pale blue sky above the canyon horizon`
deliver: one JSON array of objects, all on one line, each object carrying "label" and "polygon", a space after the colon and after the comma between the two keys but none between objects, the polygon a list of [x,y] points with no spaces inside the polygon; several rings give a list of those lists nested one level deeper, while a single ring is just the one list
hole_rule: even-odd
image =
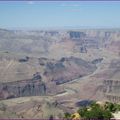
[{"label": "clear pale blue sky above the canyon horizon", "polygon": [[120,27],[120,2],[0,2],[0,28],[81,26]]}]

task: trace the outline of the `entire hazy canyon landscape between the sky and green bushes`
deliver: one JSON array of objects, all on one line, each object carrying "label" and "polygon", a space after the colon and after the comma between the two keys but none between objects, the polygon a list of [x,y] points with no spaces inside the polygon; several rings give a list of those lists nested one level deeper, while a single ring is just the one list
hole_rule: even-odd
[{"label": "entire hazy canyon landscape between the sky and green bushes", "polygon": [[120,102],[120,29],[0,29],[2,118],[61,118],[88,100]]}]

